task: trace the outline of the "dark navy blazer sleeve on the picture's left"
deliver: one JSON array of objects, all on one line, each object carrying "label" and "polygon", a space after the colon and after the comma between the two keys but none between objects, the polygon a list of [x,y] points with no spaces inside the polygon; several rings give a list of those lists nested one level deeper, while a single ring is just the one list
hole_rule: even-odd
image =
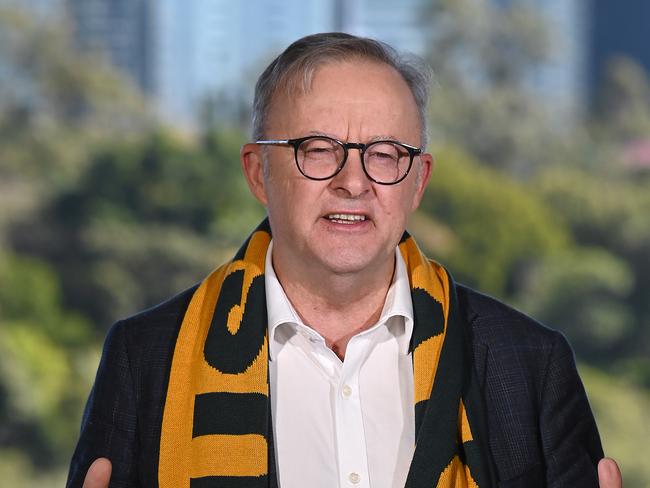
[{"label": "dark navy blazer sleeve on the picture's left", "polygon": [[89,466],[99,457],[113,465],[111,487],[139,486],[136,395],[125,328],[124,322],[117,322],[106,337],[70,463],[68,488],[81,487]]}]

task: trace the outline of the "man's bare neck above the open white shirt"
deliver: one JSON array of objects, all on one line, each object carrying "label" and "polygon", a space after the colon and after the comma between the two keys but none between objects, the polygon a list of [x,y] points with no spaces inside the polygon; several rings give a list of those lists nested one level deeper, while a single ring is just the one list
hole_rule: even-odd
[{"label": "man's bare neck above the open white shirt", "polygon": [[343,359],[350,338],[370,328],[380,317],[390,287],[395,259],[383,267],[358,273],[301,273],[283,266],[273,255],[273,268],[302,321],[325,338]]}]

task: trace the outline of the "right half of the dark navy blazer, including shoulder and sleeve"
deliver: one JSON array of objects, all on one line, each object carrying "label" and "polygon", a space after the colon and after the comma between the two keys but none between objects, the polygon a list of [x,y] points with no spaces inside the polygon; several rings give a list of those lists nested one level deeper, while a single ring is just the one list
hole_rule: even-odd
[{"label": "right half of the dark navy blazer, including shoulder and sleeve", "polygon": [[598,486],[598,430],[564,335],[457,287],[500,486]]}]

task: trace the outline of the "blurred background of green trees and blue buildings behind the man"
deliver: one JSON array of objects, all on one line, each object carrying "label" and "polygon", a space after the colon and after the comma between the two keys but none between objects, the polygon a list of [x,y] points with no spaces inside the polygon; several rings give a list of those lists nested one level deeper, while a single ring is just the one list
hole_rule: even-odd
[{"label": "blurred background of green trees and blue buildings behind the man", "polygon": [[258,74],[343,30],[435,71],[421,247],[569,337],[650,486],[648,25],[645,0],[0,0],[0,483],[64,484],[108,327],[263,217]]}]

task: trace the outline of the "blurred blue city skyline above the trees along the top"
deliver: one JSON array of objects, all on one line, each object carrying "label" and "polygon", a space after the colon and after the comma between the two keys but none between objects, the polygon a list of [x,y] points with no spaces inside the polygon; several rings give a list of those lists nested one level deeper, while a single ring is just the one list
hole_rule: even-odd
[{"label": "blurred blue city skyline above the trees along the top", "polygon": [[[517,0],[476,0],[496,8]],[[206,101],[211,116],[236,118],[252,99],[259,69],[304,35],[343,31],[380,39],[429,57],[430,0],[0,0],[44,17],[71,21],[76,44],[101,53],[154,102],[171,125],[196,125]],[[531,69],[530,89],[559,123],[593,106],[608,62],[633,59],[650,70],[650,4],[625,8],[604,0],[520,0],[544,19],[550,57]],[[218,109],[215,109],[218,107]]]}]

